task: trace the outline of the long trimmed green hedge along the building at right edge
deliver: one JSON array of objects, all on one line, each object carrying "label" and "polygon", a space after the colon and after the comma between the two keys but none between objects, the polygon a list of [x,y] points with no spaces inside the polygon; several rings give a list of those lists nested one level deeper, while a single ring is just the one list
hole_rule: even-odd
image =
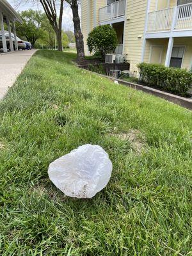
[{"label": "long trimmed green hedge along the building at right edge", "polygon": [[168,92],[186,95],[192,83],[192,73],[186,69],[150,63],[140,63],[137,67],[140,69],[140,81]]}]

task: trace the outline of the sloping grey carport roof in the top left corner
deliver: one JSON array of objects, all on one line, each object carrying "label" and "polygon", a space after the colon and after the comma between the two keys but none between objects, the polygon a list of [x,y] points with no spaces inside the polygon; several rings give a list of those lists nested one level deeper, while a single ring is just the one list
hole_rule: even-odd
[{"label": "sloping grey carport roof in the top left corner", "polygon": [[6,1],[6,0],[0,1],[0,11],[3,12],[3,15],[8,17],[8,19],[10,19],[12,21],[14,20],[14,21],[22,22],[19,15],[17,14],[17,12],[15,12],[15,10],[8,3],[8,1]]}]

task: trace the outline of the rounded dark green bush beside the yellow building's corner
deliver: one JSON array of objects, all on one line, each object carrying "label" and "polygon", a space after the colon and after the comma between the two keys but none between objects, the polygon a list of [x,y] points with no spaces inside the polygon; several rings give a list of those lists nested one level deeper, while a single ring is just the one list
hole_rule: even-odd
[{"label": "rounded dark green bush beside the yellow building's corner", "polygon": [[118,44],[115,29],[110,25],[97,26],[88,35],[87,45],[90,52],[100,52],[104,59],[105,54],[115,51]]}]

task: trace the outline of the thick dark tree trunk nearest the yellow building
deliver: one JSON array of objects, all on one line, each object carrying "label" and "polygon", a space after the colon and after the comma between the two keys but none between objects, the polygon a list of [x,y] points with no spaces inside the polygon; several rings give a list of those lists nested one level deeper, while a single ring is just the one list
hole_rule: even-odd
[{"label": "thick dark tree trunk nearest the yellow building", "polygon": [[83,34],[81,33],[77,0],[72,0],[70,7],[72,8],[73,13],[74,34],[77,47],[77,61],[81,61],[84,59],[84,43]]}]

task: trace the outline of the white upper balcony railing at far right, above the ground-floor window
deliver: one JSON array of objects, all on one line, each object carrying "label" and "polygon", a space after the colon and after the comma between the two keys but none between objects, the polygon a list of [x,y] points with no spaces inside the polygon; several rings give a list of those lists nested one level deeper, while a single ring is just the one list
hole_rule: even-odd
[{"label": "white upper balcony railing at far right, above the ground-floor window", "polygon": [[192,3],[148,13],[147,32],[192,29]]}]

